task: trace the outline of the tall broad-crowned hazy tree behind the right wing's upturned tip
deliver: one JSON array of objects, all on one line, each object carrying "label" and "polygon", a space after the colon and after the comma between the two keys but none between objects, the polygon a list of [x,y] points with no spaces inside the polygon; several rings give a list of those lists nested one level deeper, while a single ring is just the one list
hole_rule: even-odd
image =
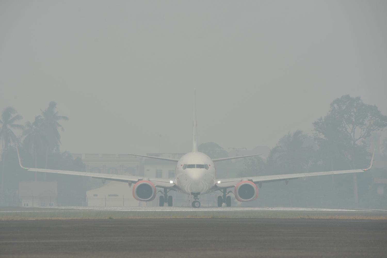
[{"label": "tall broad-crowned hazy tree behind the right wing's upturned tip", "polygon": [[[372,133],[387,126],[387,116],[381,114],[374,105],[363,103],[360,97],[344,95],[330,104],[325,117],[313,123],[315,138],[319,145],[319,160],[327,170],[356,169],[368,166],[366,143]],[[346,176],[348,179],[348,176]],[[358,205],[358,183],[353,177],[355,204]],[[364,177],[364,175],[359,175]],[[335,179],[336,180],[336,179]],[[340,189],[350,189],[351,182],[341,182]],[[360,187],[366,187],[366,180]],[[334,178],[332,177],[332,185]],[[332,189],[337,191],[336,189]],[[345,195],[345,194],[344,194]],[[344,196],[343,193],[337,196]],[[348,196],[348,194],[346,194]]]}]

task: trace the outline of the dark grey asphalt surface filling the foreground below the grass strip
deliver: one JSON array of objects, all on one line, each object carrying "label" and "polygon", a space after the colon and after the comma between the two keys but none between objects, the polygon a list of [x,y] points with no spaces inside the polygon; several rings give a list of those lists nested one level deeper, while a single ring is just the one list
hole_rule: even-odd
[{"label": "dark grey asphalt surface filling the foreground below the grass strip", "polygon": [[3,220],[0,257],[386,257],[386,220]]}]

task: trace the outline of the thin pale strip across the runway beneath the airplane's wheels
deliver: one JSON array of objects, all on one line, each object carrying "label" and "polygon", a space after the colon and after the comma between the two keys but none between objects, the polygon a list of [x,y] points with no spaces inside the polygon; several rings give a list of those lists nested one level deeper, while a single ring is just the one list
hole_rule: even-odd
[{"label": "thin pale strip across the runway beneath the airplane's wheels", "polygon": [[[298,208],[298,207],[20,207],[21,210],[7,210],[1,212],[71,212],[71,211],[133,211],[133,212],[218,212],[218,211],[321,211],[321,212],[387,212],[387,210],[372,209],[333,209],[333,208]],[[43,208],[44,210],[32,210],[33,208]]]}]

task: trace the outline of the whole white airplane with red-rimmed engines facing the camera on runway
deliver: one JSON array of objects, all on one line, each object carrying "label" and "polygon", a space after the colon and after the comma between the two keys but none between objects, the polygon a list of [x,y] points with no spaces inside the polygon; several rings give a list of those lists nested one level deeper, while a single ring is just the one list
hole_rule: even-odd
[{"label": "whole white airplane with red-rimmed engines facing the camera on runway", "polygon": [[[195,108],[195,91],[194,91],[194,123],[193,123],[193,146],[192,152],[183,155],[180,159],[170,159],[166,157],[154,157],[147,155],[130,154],[139,157],[146,157],[151,159],[160,159],[164,161],[176,162],[175,179],[164,178],[147,178],[144,176],[129,176],[120,174],[104,174],[104,173],[91,173],[91,172],[77,172],[77,171],[64,171],[54,169],[41,169],[22,166],[19,149],[17,148],[17,155],[19,157],[19,164],[23,169],[32,172],[44,172],[44,173],[57,173],[57,174],[69,174],[77,176],[88,176],[91,178],[98,178],[110,181],[120,181],[128,183],[128,186],[132,188],[133,197],[138,201],[151,202],[156,198],[157,193],[161,193],[159,196],[159,206],[173,206],[173,198],[168,195],[169,191],[179,191],[187,195],[192,195],[194,201],[192,207],[200,207],[200,195],[211,193],[214,191],[220,191],[221,195],[217,197],[217,206],[222,207],[225,204],[227,207],[231,206],[231,196],[233,193],[236,200],[239,202],[250,202],[258,197],[258,187],[262,187],[262,183],[271,183],[276,181],[285,181],[288,185],[288,181],[291,179],[304,178],[309,176],[325,176],[334,174],[348,174],[348,173],[362,173],[368,171],[372,167],[373,156],[372,155],[370,166],[366,169],[351,169],[351,170],[339,170],[339,171],[324,171],[324,172],[312,172],[312,173],[297,173],[297,174],[277,174],[269,176],[247,176],[243,178],[225,178],[216,179],[215,162],[226,161],[231,159],[241,159],[246,157],[258,156],[245,155],[238,157],[227,157],[220,159],[211,159],[206,154],[199,152],[197,149],[197,120],[196,120],[196,108]],[[161,188],[163,191],[157,191],[156,188]],[[234,191],[228,191],[229,188],[234,188]]]}]

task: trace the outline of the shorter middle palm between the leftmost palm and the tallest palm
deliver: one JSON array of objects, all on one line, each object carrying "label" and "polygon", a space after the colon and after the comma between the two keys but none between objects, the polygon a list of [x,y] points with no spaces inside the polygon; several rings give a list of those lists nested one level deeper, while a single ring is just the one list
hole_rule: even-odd
[{"label": "shorter middle palm between the leftmost palm and the tallest palm", "polygon": [[[46,146],[46,133],[42,128],[43,118],[41,116],[35,116],[35,121],[33,123],[27,122],[23,136],[24,146],[34,155],[35,167],[37,166],[38,160],[38,149],[42,150]],[[36,172],[35,172],[35,181]]]}]

